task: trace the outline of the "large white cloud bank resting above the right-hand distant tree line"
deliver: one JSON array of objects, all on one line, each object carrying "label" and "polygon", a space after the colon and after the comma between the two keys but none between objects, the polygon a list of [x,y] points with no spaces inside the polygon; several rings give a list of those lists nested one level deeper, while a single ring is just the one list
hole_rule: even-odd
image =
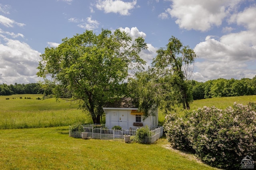
[{"label": "large white cloud bank resting above the right-hand distant tree line", "polygon": [[256,69],[256,33],[241,31],[220,37],[219,40],[206,37],[204,42],[194,48],[198,55],[195,62],[195,80],[214,80],[217,78],[252,78]]}]

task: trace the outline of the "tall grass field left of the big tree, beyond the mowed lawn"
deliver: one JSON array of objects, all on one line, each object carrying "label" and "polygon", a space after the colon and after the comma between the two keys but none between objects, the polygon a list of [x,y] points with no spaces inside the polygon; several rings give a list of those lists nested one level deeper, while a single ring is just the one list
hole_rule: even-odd
[{"label": "tall grass field left of the big tree, beyond the mowed lawn", "polygon": [[[22,99],[20,99],[22,97]],[[25,99],[30,98],[30,99]],[[0,129],[58,127],[73,123],[92,123],[90,116],[78,109],[78,104],[38,94],[0,96]],[[6,98],[10,98],[6,100]],[[13,99],[14,98],[14,99]]]}]

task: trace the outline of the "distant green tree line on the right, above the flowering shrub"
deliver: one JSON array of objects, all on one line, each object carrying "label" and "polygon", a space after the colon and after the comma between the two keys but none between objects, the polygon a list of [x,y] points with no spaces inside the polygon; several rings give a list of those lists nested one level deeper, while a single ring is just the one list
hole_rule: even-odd
[{"label": "distant green tree line on the right, above the flowering shrub", "polygon": [[193,100],[228,97],[228,96],[248,96],[256,95],[256,76],[254,78],[218,78],[206,82],[191,80]]}]

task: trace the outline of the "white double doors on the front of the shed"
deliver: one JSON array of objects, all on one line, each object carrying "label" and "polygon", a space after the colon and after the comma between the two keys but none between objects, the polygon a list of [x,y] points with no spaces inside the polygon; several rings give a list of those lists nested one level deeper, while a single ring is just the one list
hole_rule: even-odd
[{"label": "white double doors on the front of the shed", "polygon": [[110,111],[110,126],[121,126],[123,129],[128,129],[128,115],[126,110],[111,110]]}]

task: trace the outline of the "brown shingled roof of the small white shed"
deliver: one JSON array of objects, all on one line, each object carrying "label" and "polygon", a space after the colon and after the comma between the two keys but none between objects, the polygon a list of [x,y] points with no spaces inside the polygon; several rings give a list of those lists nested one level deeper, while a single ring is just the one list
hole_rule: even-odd
[{"label": "brown shingled roof of the small white shed", "polygon": [[120,98],[114,102],[108,102],[103,107],[105,108],[138,108],[135,100],[132,98]]}]

